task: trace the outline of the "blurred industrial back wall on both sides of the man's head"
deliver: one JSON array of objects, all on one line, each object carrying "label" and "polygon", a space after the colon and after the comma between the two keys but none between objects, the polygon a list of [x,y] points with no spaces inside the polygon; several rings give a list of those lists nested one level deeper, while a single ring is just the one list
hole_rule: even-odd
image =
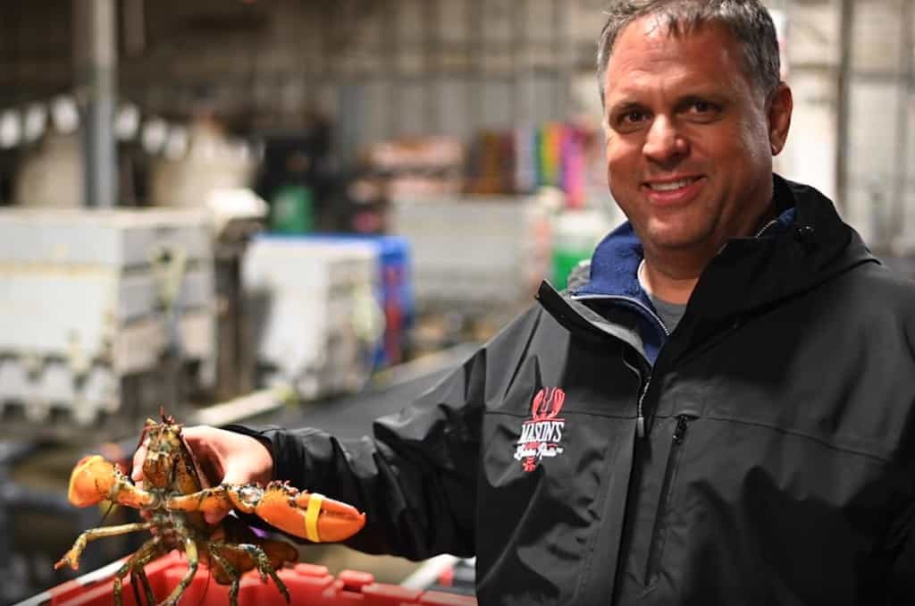
[{"label": "blurred industrial back wall on both sides of the man's head", "polygon": [[[242,127],[335,119],[340,157],[404,135],[599,114],[604,0],[121,0],[122,97],[145,114],[215,110]],[[915,246],[913,0],[768,0],[795,92],[788,177],[877,248]],[[70,90],[69,0],[9,3],[0,107]],[[845,20],[843,19],[845,11]],[[843,24],[845,23],[845,26]]]}]

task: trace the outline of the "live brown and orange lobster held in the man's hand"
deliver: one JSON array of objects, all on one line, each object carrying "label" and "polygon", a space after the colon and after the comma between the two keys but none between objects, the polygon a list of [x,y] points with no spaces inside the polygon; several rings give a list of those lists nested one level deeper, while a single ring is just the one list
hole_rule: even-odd
[{"label": "live brown and orange lobster held in the man's hand", "polygon": [[[229,515],[210,525],[204,512],[235,509],[254,514],[286,533],[313,542],[342,541],[365,525],[365,514],[355,507],[318,493],[298,491],[286,482],[208,486],[193,452],[181,436],[174,417],[162,413],[162,422],[147,419],[141,443],[147,439],[143,487],[135,485],[116,464],[100,455],[82,458],[70,474],[68,499],[77,507],[111,501],[144,512],[143,522],[92,528],[77,537],[54,568],[78,569],[87,544],[105,536],[149,530],[153,536],[114,575],[114,603],[122,603],[124,577],[139,579],[148,604],[154,604],[144,567],[173,549],[183,550],[188,571],[160,606],[174,606],[197,573],[199,562],[210,568],[222,585],[230,585],[229,601],[237,606],[241,575],[257,569],[262,582],[273,579],[289,603],[289,591],[276,574],[294,563],[298,551],[284,540],[257,536],[239,518]],[[136,590],[136,584],[134,585]]]}]

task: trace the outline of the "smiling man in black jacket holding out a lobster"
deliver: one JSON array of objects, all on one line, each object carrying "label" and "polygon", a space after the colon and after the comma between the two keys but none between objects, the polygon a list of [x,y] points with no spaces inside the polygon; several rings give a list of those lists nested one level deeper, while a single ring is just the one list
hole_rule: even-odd
[{"label": "smiling man in black jacket holding out a lobster", "polygon": [[483,604],[911,603],[915,290],[773,176],[770,16],[620,1],[598,57],[630,222],[589,275],[346,450],[242,427],[192,447],[226,482],[355,504],[351,546],[475,555]]}]

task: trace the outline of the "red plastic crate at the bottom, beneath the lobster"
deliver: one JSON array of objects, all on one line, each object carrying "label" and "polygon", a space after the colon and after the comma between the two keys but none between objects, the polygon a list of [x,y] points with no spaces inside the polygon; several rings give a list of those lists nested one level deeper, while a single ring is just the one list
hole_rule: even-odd
[{"label": "red plastic crate at the bottom, beneath the lobster", "polygon": [[[162,601],[188,571],[184,557],[173,552],[167,557],[146,565],[146,576],[156,595]],[[475,606],[476,598],[442,591],[414,590],[399,585],[374,582],[369,572],[343,570],[337,578],[328,568],[314,564],[296,564],[277,571],[290,594],[291,606]],[[48,591],[51,606],[109,606],[113,603],[113,577],[87,583],[76,579]],[[130,578],[124,579],[124,606],[138,606]],[[200,565],[194,579],[182,596],[181,603],[196,606],[223,606],[229,601],[229,588],[220,585],[210,576],[207,567]],[[239,606],[260,604],[285,604],[273,579],[264,583],[254,570],[242,576],[238,595]]]}]

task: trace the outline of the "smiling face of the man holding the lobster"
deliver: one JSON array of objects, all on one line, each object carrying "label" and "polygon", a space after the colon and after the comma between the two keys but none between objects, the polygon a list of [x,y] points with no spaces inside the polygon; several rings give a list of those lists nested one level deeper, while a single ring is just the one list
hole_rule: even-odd
[{"label": "smiling face of the man holding the lobster", "polygon": [[604,86],[610,191],[647,256],[705,265],[756,229],[791,92],[767,103],[727,27],[673,37],[653,17],[634,21],[617,38]]}]

